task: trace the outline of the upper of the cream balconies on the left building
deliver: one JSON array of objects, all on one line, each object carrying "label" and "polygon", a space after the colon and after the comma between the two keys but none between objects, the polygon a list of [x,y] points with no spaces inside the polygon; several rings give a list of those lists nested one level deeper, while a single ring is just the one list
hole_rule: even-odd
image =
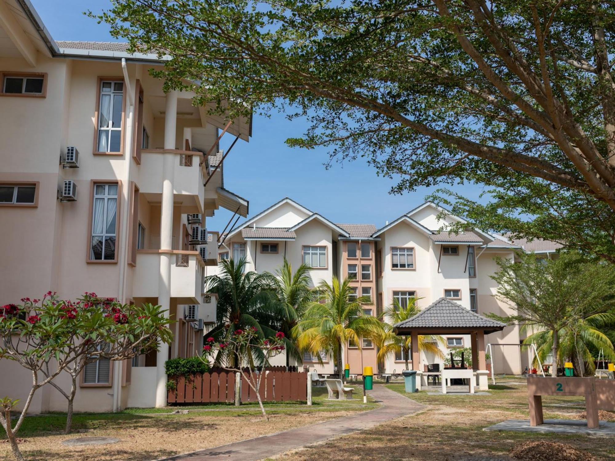
[{"label": "upper of the cream balconies on the left building", "polygon": [[137,185],[150,202],[162,200],[162,170],[165,156],[173,156],[173,202],[182,213],[202,213],[205,176],[200,152],[178,149],[143,149]]}]

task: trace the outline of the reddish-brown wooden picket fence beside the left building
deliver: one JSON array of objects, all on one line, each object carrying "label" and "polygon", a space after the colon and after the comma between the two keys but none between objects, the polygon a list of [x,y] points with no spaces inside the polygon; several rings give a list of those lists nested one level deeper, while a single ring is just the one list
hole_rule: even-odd
[{"label": "reddish-brown wooden picket fence beside the left building", "polygon": [[[272,367],[274,368],[274,367]],[[256,392],[247,381],[244,371],[240,383],[240,401],[257,401]],[[253,374],[256,377],[256,374]],[[232,403],[235,401],[236,375],[231,371],[197,373],[192,379],[180,377],[177,388],[169,390],[168,403]],[[294,371],[266,371],[259,393],[262,401],[284,402],[308,398],[308,374]]]}]

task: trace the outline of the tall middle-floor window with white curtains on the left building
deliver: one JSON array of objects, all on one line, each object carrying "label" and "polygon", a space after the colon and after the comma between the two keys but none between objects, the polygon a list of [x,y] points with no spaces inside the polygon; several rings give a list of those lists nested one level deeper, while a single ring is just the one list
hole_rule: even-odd
[{"label": "tall middle-floor window with white curtains on the left building", "polygon": [[94,184],[90,260],[116,259],[117,184]]}]

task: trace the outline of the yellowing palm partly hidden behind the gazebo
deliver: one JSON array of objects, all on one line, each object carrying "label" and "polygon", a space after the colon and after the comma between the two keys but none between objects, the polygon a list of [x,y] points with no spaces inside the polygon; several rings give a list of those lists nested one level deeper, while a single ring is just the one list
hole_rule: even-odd
[{"label": "yellowing palm partly hidden behind the gazebo", "polygon": [[[378,361],[383,361],[389,355],[395,353],[403,353],[403,358],[406,363],[406,369],[408,369],[408,357],[410,357],[411,339],[410,336],[397,336],[393,333],[393,325],[400,321],[408,320],[410,317],[414,317],[421,310],[416,305],[416,302],[420,297],[412,297],[408,299],[408,305],[403,307],[399,304],[399,301],[395,299],[393,304],[384,309],[382,313],[384,331],[383,334],[377,339],[376,345],[378,345]],[[391,321],[387,323],[386,320]],[[418,336],[418,349],[424,352],[431,352],[438,358],[444,358],[444,354],[438,345],[445,345],[444,338],[436,334],[419,334]]]}]

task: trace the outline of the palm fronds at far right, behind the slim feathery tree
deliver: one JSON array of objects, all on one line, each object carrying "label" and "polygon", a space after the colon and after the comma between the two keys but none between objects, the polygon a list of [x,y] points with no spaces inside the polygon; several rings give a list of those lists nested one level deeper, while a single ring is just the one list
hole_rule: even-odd
[{"label": "palm fronds at far right, behind the slim feathery tree", "polygon": [[[571,361],[575,363],[575,368],[581,373],[581,376],[584,374],[593,375],[595,364],[590,349],[596,352],[602,350],[606,360],[615,360],[613,343],[603,333],[613,326],[615,326],[615,313],[613,312],[594,313],[585,318],[581,317],[570,321],[557,332],[559,344],[557,360],[554,363]],[[531,331],[531,326],[523,325],[521,331],[522,333]],[[523,341],[523,344],[532,343],[536,345],[538,357],[544,363],[547,356],[552,354],[553,332],[547,329],[538,331]]]}]

